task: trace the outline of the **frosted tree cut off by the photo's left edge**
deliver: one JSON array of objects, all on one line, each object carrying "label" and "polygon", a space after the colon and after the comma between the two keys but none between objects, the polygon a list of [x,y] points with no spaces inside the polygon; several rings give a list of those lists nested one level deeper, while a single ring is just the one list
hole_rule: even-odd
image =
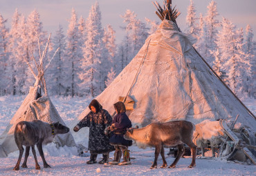
[{"label": "frosted tree cut off by the photo's left edge", "polygon": [[6,28],[7,19],[3,19],[0,14],[0,95],[8,93],[8,29]]}]

